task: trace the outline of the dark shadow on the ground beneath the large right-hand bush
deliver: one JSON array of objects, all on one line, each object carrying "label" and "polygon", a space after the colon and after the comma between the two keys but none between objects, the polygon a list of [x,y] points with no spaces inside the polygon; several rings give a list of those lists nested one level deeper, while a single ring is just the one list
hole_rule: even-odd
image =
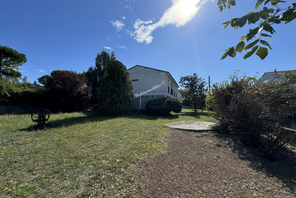
[{"label": "dark shadow on the ground beneath the large right-hand bush", "polygon": [[[232,139],[234,146],[232,152],[237,153],[241,160],[249,161],[249,167],[264,172],[268,177],[276,177],[290,189],[296,191],[296,152],[288,148],[280,151],[276,161],[268,160],[264,155],[260,155],[258,148],[251,148],[243,145],[238,135],[234,133],[218,133],[216,135],[223,141]],[[268,178],[266,178],[268,182]]]}]

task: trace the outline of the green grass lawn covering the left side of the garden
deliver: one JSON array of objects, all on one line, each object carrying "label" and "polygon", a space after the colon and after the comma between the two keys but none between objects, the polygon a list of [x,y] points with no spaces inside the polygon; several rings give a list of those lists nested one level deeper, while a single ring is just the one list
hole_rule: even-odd
[{"label": "green grass lawn covering the left side of the garden", "polygon": [[145,112],[103,117],[86,110],[52,114],[55,128],[31,131],[30,115],[0,115],[0,196],[125,197],[136,188],[126,169],[163,148],[165,123],[209,119],[189,109],[165,118]]}]

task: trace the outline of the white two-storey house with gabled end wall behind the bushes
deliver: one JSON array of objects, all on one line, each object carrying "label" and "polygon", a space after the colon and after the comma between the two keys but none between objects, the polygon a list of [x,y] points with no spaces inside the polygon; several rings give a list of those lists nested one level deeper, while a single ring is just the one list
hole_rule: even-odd
[{"label": "white two-storey house with gabled end wall behind the bushes", "polygon": [[133,84],[133,109],[145,110],[148,100],[178,96],[178,84],[168,71],[136,65],[127,70]]}]

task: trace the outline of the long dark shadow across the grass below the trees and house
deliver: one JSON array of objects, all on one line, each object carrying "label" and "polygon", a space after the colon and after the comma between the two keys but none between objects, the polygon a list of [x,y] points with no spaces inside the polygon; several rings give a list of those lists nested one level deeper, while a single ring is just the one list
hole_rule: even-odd
[{"label": "long dark shadow across the grass below the trees and house", "polygon": [[[173,114],[170,114],[166,117],[152,116],[152,115],[148,115],[146,111],[139,111],[139,110],[133,110],[131,113],[124,116],[103,116],[103,115],[99,115],[97,111],[93,109],[85,109],[81,111],[81,113],[83,113],[84,116],[67,117],[67,114],[65,114],[65,118],[56,119],[56,120],[50,119],[48,123],[54,123],[56,127],[68,127],[76,124],[84,124],[87,122],[101,122],[104,120],[120,118],[120,117],[127,118],[127,119],[141,119],[141,120],[158,120],[158,119],[174,120],[179,117],[178,115],[173,115]],[[20,129],[20,130],[31,131],[28,128]]]}]

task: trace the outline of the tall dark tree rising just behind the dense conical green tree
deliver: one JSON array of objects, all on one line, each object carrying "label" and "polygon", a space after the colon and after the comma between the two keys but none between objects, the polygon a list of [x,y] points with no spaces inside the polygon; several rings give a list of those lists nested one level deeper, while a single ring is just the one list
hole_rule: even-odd
[{"label": "tall dark tree rising just behind the dense conical green tree", "polygon": [[105,68],[109,65],[110,61],[116,60],[115,53],[112,51],[111,57],[106,50],[98,53],[95,59],[95,66],[91,66],[85,73],[88,78],[87,86],[91,87],[93,95],[92,100],[97,101],[97,93],[100,86],[100,77],[104,74]]}]

